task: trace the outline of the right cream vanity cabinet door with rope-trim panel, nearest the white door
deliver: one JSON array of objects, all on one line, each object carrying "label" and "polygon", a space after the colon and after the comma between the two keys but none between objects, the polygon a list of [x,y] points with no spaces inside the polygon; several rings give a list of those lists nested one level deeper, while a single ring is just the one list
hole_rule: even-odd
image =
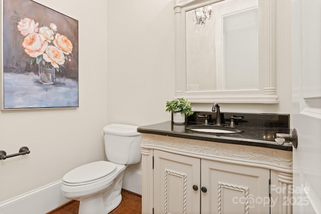
[{"label": "right cream vanity cabinet door with rope-trim panel, nearest the white door", "polygon": [[270,213],[270,170],[201,160],[201,213]]}]

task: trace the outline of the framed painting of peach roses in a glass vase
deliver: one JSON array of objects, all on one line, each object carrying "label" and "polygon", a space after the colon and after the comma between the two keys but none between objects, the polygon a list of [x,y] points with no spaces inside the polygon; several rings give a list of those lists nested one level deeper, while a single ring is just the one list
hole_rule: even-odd
[{"label": "framed painting of peach roses in a glass vase", "polygon": [[1,0],[2,110],[78,107],[78,21],[31,0]]}]

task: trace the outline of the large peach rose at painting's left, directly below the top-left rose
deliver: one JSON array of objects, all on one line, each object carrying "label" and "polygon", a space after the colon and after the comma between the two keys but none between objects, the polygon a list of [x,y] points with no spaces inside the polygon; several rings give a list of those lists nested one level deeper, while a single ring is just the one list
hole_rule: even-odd
[{"label": "large peach rose at painting's left, directly below the top-left rose", "polygon": [[29,56],[36,58],[46,51],[48,42],[42,35],[31,33],[24,39],[22,46],[25,48],[25,52],[29,54]]}]

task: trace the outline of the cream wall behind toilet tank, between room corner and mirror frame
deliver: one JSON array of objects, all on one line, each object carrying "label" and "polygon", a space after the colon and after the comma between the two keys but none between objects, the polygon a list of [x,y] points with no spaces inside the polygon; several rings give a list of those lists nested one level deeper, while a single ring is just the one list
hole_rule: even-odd
[{"label": "cream wall behind toilet tank, between room corner and mirror frame", "polygon": [[171,119],[165,103],[175,90],[173,7],[173,0],[108,0],[108,123]]}]

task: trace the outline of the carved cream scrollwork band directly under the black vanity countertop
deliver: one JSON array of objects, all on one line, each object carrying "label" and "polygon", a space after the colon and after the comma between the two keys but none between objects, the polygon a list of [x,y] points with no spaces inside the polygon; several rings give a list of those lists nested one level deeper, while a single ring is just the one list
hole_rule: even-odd
[{"label": "carved cream scrollwork band directly under the black vanity countertop", "polygon": [[243,165],[275,168],[285,173],[292,173],[293,162],[290,151],[144,133],[141,146],[146,149],[171,150],[193,157],[241,162]]}]

